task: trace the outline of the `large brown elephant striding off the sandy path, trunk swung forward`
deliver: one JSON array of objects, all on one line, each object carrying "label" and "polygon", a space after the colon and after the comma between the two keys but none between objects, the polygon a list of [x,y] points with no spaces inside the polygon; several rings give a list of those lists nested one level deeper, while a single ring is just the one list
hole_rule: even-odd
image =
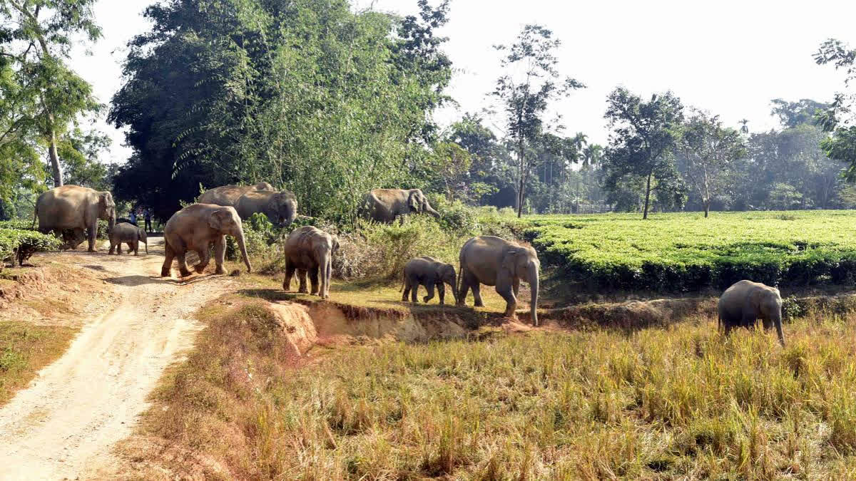
[{"label": "large brown elephant striding off the sandy path, trunk swung forward", "polygon": [[199,264],[195,270],[202,273],[210,260],[208,248],[214,244],[214,262],[217,263],[215,273],[223,274],[223,260],[226,256],[226,235],[235,237],[247,272],[253,272],[253,265],[247,257],[247,246],[244,244],[244,229],[241,227],[241,217],[235,207],[228,205],[193,204],[169,217],[163,227],[163,243],[166,258],[163,259],[161,276],[169,277],[172,259],[178,258],[178,268],[182,277],[190,276],[187,270],[185,254],[195,251],[199,254]]}]

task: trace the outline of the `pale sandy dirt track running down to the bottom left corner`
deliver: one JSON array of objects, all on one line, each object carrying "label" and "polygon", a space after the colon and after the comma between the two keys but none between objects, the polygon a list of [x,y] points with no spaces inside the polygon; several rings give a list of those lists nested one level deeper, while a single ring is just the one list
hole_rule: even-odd
[{"label": "pale sandy dirt track running down to the bottom left corner", "polygon": [[102,270],[116,308],[0,408],[0,479],[90,478],[110,466],[110,447],[131,434],[163,369],[191,346],[200,329],[192,313],[235,288],[227,276],[158,278],[163,240],[150,244],[140,257],[107,256],[103,247],[68,254],[71,264]]}]

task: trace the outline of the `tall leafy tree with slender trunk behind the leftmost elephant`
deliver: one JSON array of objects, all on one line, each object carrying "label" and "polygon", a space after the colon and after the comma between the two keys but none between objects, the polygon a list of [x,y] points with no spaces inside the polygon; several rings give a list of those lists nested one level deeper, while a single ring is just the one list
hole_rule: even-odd
[{"label": "tall leafy tree with slender trunk behind the leftmost elephant", "polygon": [[9,26],[0,29],[2,53],[32,96],[26,104],[48,147],[54,186],[62,186],[62,134],[80,114],[99,108],[92,86],[63,62],[75,39],[82,35],[92,42],[101,36],[92,15],[95,1],[0,0],[0,15]]}]

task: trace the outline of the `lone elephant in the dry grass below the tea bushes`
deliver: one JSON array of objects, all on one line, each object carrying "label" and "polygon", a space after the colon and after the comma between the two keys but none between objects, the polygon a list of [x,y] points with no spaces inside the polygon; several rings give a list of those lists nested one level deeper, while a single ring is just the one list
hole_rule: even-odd
[{"label": "lone elephant in the dry grass below the tea bushes", "polygon": [[735,282],[722,293],[717,310],[717,328],[720,323],[725,326],[726,335],[735,327],[751,329],[761,318],[764,330],[776,326],[779,342],[785,345],[785,336],[782,334],[782,295],[779,289],[761,282]]}]

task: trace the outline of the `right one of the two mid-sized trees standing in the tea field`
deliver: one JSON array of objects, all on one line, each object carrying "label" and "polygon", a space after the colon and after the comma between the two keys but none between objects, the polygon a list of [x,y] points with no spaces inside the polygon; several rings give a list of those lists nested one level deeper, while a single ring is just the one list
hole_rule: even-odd
[{"label": "right one of the two mid-sized trees standing in the tea field", "polygon": [[701,197],[707,217],[710,199],[725,187],[731,164],[746,154],[743,139],[734,128],[723,128],[719,116],[694,110],[683,126],[678,151],[686,159],[685,175]]}]

